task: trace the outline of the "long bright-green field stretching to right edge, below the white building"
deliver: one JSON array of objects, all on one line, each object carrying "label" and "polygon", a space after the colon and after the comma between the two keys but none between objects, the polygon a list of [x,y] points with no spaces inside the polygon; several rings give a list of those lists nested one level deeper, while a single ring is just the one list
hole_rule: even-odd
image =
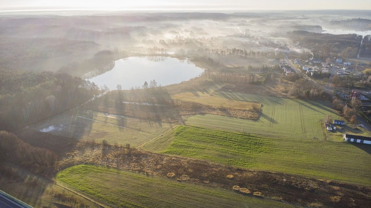
[{"label": "long bright-green field stretching to right edge, below the white building", "polygon": [[[165,154],[371,185],[371,149],[367,145],[269,138],[190,126],[176,127],[173,141],[169,138],[165,134],[158,141],[150,142],[167,145],[165,150],[159,151]],[[147,144],[147,147],[152,145]]]}]

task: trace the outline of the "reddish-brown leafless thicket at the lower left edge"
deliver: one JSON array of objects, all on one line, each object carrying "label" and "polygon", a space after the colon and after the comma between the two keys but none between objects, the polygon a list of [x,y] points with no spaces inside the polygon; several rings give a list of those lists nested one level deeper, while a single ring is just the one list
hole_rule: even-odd
[{"label": "reddish-brown leafless thicket at the lower left edge", "polygon": [[11,161],[37,174],[56,170],[57,155],[43,148],[33,147],[7,131],[0,131],[0,162]]}]

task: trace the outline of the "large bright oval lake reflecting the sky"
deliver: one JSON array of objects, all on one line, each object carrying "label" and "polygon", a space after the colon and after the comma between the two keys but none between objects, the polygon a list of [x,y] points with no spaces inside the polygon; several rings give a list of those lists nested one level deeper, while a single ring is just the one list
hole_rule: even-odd
[{"label": "large bright oval lake reflecting the sky", "polygon": [[87,80],[99,87],[106,84],[114,90],[118,84],[122,89],[141,86],[144,81],[150,84],[156,80],[157,85],[169,85],[190,80],[203,73],[203,69],[196,67],[190,60],[164,56],[128,57],[115,61],[112,70],[106,71]]}]

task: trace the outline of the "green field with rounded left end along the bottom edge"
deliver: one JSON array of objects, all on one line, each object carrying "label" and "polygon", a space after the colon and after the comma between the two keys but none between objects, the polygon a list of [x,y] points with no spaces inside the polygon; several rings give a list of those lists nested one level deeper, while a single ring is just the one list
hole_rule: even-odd
[{"label": "green field with rounded left end along the bottom edge", "polygon": [[56,181],[109,207],[289,207],[220,188],[94,165],[67,168]]}]

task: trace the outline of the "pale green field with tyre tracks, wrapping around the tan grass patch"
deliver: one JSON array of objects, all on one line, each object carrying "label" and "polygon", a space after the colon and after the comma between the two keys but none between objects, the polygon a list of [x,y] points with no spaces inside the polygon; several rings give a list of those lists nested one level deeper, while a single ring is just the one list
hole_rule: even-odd
[{"label": "pale green field with tyre tracks, wrapping around the tan grass patch", "polygon": [[[217,90],[214,96],[231,100],[243,100],[262,103],[259,120],[245,120],[222,115],[195,115],[186,120],[188,125],[221,128],[232,131],[243,131],[251,134],[262,134],[273,137],[295,139],[325,139],[323,128],[326,114],[334,119],[340,115],[324,104],[315,101],[304,101],[290,98],[270,97]],[[369,134],[347,128],[350,134]],[[341,135],[341,134],[339,134]],[[332,140],[334,137],[329,137]],[[336,137],[335,137],[336,138]]]}]

